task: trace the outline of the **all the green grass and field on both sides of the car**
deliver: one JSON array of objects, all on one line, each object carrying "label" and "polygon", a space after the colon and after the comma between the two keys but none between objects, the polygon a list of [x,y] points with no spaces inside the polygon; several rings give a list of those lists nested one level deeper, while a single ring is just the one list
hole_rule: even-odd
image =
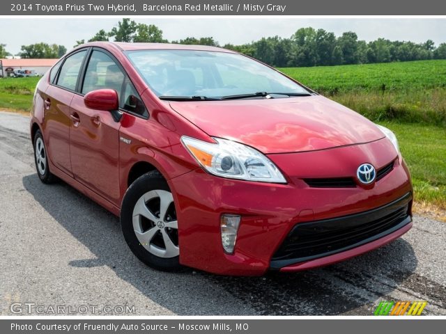
[{"label": "all the green grass and field on both sides of the car", "polygon": [[[392,129],[412,173],[417,207],[446,210],[446,61],[280,70]],[[0,109],[29,111],[37,81],[0,79]]]}]

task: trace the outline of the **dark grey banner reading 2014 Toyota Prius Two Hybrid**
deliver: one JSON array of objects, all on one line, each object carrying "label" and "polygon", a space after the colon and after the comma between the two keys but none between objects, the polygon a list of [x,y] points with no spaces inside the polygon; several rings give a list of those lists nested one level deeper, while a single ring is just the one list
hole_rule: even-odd
[{"label": "dark grey banner reading 2014 Toyota Prius Two Hybrid", "polygon": [[11,0],[0,15],[446,15],[438,0]]}]

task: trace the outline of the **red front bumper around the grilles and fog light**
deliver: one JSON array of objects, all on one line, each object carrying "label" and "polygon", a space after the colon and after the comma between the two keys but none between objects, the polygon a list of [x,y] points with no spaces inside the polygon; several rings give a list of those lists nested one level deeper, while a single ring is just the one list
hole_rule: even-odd
[{"label": "red front bumper around the grilles and fog light", "polygon": [[[411,223],[360,243],[327,252],[321,257],[297,258],[286,263],[273,257],[299,224],[326,221],[385,207],[412,192],[410,176],[392,144],[373,143],[295,154],[273,154],[270,159],[284,171],[288,184],[268,184],[215,177],[201,169],[169,180],[174,193],[180,242],[180,263],[225,275],[255,276],[268,269],[298,271],[345,260],[396,239]],[[355,175],[364,162],[377,169],[394,161],[393,169],[369,186],[318,188],[305,178]],[[411,200],[406,213],[411,216]],[[226,254],[220,237],[220,216],[242,216],[233,254]],[[351,245],[350,245],[351,246]]]}]

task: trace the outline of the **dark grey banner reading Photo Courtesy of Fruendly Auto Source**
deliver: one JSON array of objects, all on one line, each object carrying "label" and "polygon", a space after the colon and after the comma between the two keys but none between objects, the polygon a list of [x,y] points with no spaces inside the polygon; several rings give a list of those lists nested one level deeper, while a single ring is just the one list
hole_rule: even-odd
[{"label": "dark grey banner reading Photo Courtesy of Fruendly Auto Source", "polygon": [[422,333],[440,331],[445,319],[29,319],[0,320],[0,333]]}]

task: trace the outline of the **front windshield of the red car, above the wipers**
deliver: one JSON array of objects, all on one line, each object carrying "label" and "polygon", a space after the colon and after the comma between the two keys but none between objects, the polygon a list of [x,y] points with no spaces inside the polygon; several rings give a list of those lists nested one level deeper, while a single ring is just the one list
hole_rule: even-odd
[{"label": "front windshield of the red car, above the wipers", "polygon": [[194,50],[128,51],[153,93],[213,97],[259,92],[307,94],[284,75],[240,54]]}]

